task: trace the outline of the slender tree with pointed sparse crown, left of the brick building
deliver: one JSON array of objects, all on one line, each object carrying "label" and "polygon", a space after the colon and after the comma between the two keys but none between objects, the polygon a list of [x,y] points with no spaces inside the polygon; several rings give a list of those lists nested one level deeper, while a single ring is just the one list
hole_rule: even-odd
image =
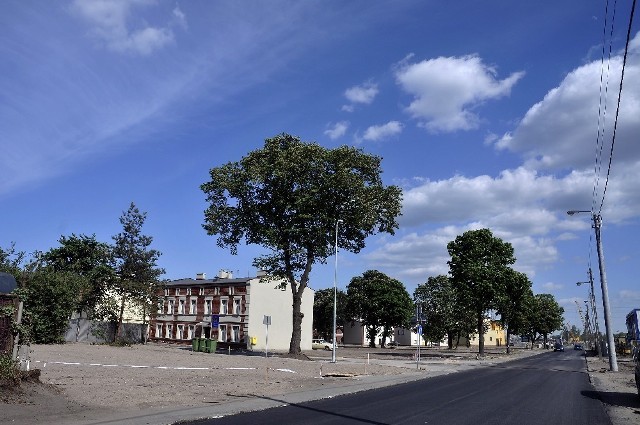
[{"label": "slender tree with pointed sparse crown, left of the brick building", "polygon": [[143,320],[147,312],[157,305],[155,293],[164,269],[157,265],[160,252],[150,248],[153,238],[142,233],[146,218],[147,213],[140,212],[132,202],[120,217],[122,232],[113,236],[116,268],[114,288],[120,298],[116,338],[120,337],[127,303],[142,307]]}]

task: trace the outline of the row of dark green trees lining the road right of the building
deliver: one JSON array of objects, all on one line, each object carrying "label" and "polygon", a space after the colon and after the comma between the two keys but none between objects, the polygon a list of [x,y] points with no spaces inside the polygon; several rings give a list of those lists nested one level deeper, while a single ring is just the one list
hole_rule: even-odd
[{"label": "row of dark green trees lining the road right of the building", "polygon": [[[543,336],[546,342],[548,334],[562,327],[564,309],[554,297],[534,295],[528,277],[510,267],[515,262],[511,244],[480,229],[458,236],[447,248],[449,275],[429,277],[415,289],[413,299],[401,282],[379,271],[354,277],[346,293],[336,293],[337,324],[361,321],[375,346],[378,333],[384,345],[393,327],[409,327],[413,317],[414,325],[424,323],[425,340],[446,336],[449,348],[460,337],[479,335],[481,355],[489,311],[499,315],[507,341],[518,334],[532,341]],[[314,329],[325,337],[333,332],[333,291],[316,292],[314,302]]]}]

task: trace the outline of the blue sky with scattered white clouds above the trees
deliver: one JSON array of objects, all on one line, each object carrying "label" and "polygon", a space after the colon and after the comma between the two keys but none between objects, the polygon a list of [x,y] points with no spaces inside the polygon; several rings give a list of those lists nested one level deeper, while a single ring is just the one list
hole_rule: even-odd
[{"label": "blue sky with scattered white clouds above the trees", "polygon": [[[566,211],[602,204],[622,331],[640,307],[640,35],[636,20],[607,180],[621,3],[614,18],[592,0],[9,0],[0,246],[46,251],[72,233],[111,242],[133,201],[165,277],[253,274],[261,248],[217,248],[199,187],[287,132],[379,155],[385,183],[403,189],[400,229],[341,252],[340,288],[378,269],[412,293],[447,272],[449,241],[488,227],[513,244],[534,292],[580,326],[576,282],[589,266],[602,318],[598,261],[590,215]],[[316,265],[311,287],[332,287],[333,268]]]}]

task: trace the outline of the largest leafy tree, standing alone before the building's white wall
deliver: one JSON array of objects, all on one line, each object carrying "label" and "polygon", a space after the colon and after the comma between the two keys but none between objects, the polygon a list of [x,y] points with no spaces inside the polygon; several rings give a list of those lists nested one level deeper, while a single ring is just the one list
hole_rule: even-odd
[{"label": "largest leafy tree, standing alone before the building's white wall", "polygon": [[380,162],[359,149],[327,149],[283,133],[239,162],[212,168],[201,186],[209,203],[203,227],[218,246],[236,254],[244,241],[271,251],[253,264],[291,290],[290,354],[301,352],[302,295],[312,267],[334,254],[334,238],[357,253],[367,236],[398,227],[401,190],[382,184]]}]

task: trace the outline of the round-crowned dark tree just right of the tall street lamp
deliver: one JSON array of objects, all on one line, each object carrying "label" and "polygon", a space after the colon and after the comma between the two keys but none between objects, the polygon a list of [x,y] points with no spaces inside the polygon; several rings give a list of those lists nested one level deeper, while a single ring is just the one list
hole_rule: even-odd
[{"label": "round-crowned dark tree just right of the tall street lamp", "polygon": [[368,270],[349,282],[345,310],[352,319],[362,321],[371,347],[376,346],[376,335],[382,330],[384,347],[394,327],[409,324],[414,305],[402,282]]}]

